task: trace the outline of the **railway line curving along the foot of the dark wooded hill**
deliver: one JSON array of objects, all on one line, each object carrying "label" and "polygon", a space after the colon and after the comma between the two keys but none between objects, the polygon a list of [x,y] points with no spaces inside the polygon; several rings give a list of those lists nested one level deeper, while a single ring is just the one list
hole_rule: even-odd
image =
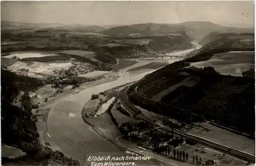
[{"label": "railway line curving along the foot of the dark wooded hill", "polygon": [[[124,91],[124,94],[126,94],[128,89],[129,88],[127,88]],[[124,106],[124,108],[127,110],[127,112],[130,112],[131,114],[134,114],[133,111],[130,109],[130,106],[126,105],[126,102],[123,102],[123,98],[122,97],[121,97],[121,103]],[[137,115],[137,116],[139,118],[141,118],[142,120],[148,122],[148,123],[151,123],[151,124],[153,124],[155,126],[162,127],[161,129],[164,130],[164,131],[172,132],[172,128],[169,128],[169,127],[163,126],[163,125],[161,125],[161,124],[159,124],[157,122],[154,122],[153,119],[149,119],[148,117],[144,117],[144,116],[140,116],[140,115]],[[233,149],[233,148],[230,148],[230,147],[227,147],[227,146],[224,146],[224,145],[212,142],[210,140],[206,140],[206,139],[204,139],[202,137],[199,137],[199,136],[196,136],[196,135],[193,135],[193,134],[189,134],[189,133],[177,130],[177,129],[174,129],[174,133],[179,134],[179,135],[181,135],[183,137],[187,137],[188,139],[195,140],[198,143],[200,143],[202,145],[205,145],[207,147],[219,150],[219,151],[224,152],[226,154],[230,154],[231,156],[234,156],[234,157],[237,157],[237,158],[249,161],[251,163],[255,163],[255,156],[254,155],[251,155],[251,154],[248,154],[248,153],[245,153],[245,152],[242,152],[242,151],[239,151],[239,150],[236,150],[236,149]]]}]

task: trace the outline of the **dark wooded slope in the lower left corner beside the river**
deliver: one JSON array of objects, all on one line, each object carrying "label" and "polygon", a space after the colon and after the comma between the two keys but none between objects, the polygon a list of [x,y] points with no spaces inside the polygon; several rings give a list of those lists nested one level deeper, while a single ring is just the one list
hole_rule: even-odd
[{"label": "dark wooded slope in the lower left corner beside the river", "polygon": [[[1,70],[1,131],[2,143],[18,148],[26,153],[14,159],[2,157],[2,165],[81,165],[63,153],[53,151],[39,142],[36,124],[32,121],[32,104],[28,92],[35,91],[44,85],[36,78],[17,75]],[[21,107],[12,105],[14,98],[24,92]]]}]

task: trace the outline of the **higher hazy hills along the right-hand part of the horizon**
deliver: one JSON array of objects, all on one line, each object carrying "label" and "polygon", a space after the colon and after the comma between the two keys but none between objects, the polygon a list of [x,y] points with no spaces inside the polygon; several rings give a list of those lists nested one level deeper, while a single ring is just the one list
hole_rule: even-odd
[{"label": "higher hazy hills along the right-hand part of the horizon", "polygon": [[[116,26],[112,29],[103,31],[102,33],[108,35],[118,35],[118,34],[137,34],[144,33],[145,30],[150,29],[152,34],[157,33],[177,33],[179,31],[185,31],[186,34],[194,39],[200,39],[211,32],[252,32],[252,29],[239,28],[239,27],[226,27],[219,24],[215,24],[207,21],[187,21],[175,24],[166,23],[141,23],[132,24],[126,26]],[[147,31],[148,33],[148,31]]]}]

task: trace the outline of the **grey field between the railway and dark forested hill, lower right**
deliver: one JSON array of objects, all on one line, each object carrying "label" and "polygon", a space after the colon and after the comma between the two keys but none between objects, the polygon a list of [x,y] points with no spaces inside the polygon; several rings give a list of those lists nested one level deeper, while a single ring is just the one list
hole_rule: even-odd
[{"label": "grey field between the railway and dark forested hill, lower right", "polygon": [[201,127],[194,127],[187,131],[216,143],[255,155],[255,142],[245,136],[221,129],[209,123],[199,123]]}]

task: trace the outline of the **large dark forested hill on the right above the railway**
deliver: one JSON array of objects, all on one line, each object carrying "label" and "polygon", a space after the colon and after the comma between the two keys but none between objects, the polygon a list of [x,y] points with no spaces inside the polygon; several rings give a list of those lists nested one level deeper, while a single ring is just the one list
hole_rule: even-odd
[{"label": "large dark forested hill on the right above the railway", "polygon": [[194,57],[146,75],[129,89],[129,99],[145,109],[182,122],[213,120],[253,135],[253,70],[235,77],[221,75],[213,67],[188,68],[191,63],[210,60],[216,53],[254,51],[254,44],[244,48],[236,44],[239,41],[240,39],[226,39],[222,40],[222,44],[219,41],[208,43]]}]

